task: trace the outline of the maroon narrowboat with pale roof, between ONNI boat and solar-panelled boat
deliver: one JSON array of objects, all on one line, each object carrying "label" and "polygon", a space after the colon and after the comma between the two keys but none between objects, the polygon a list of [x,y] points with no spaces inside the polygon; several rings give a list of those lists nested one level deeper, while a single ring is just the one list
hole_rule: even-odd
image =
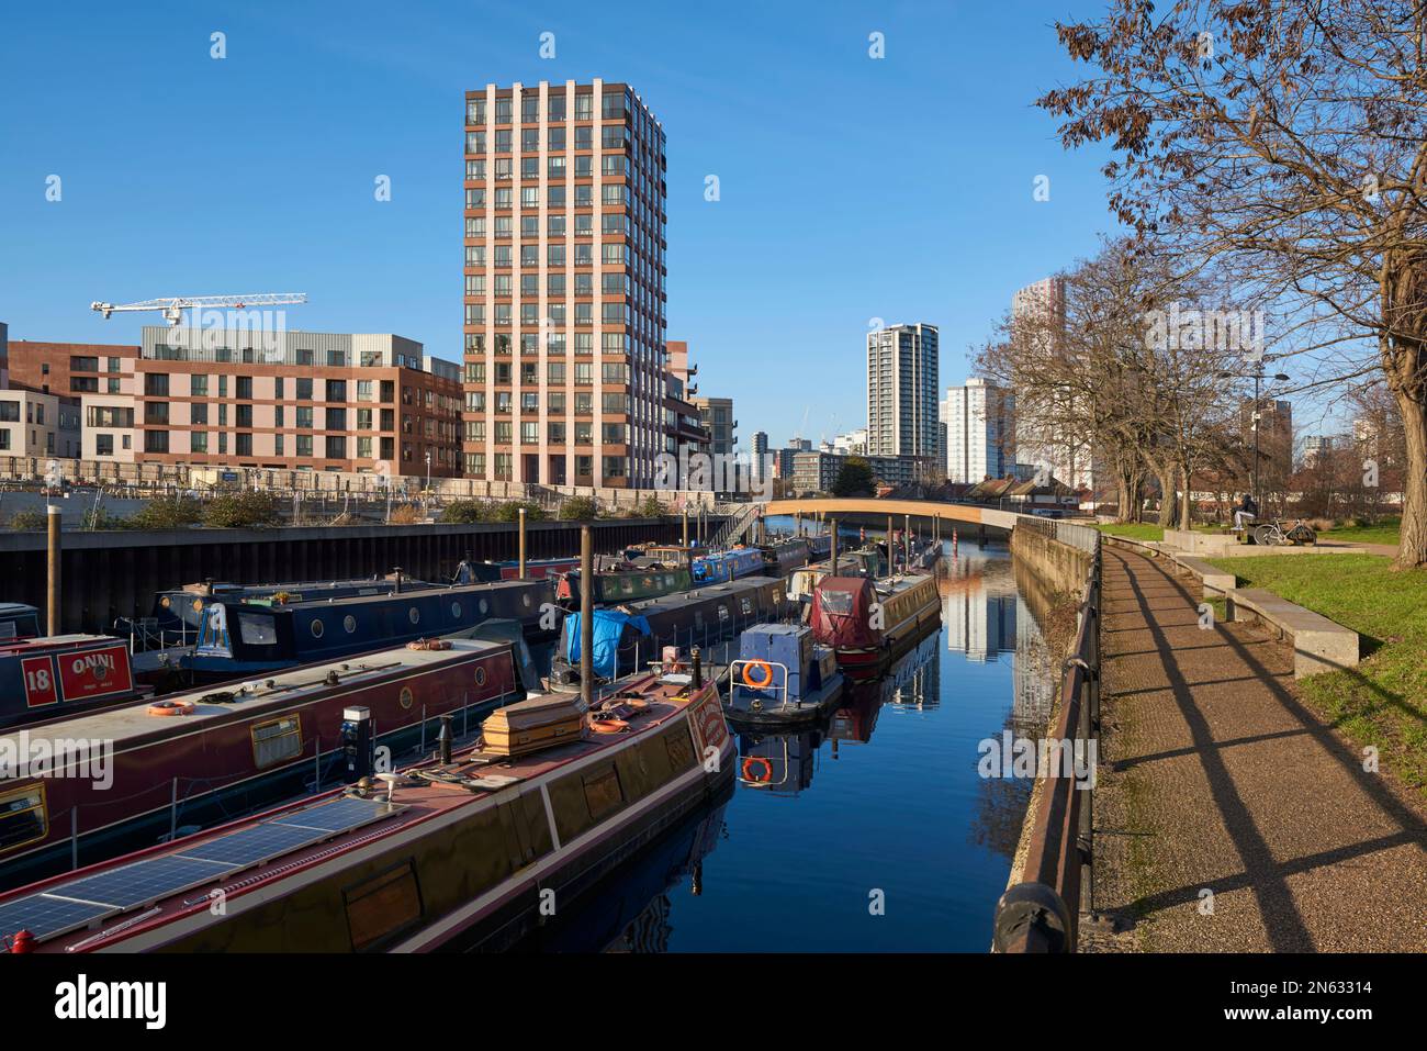
[{"label": "maroon narrowboat with pale roof, between ONNI boat and solar-panelled boat", "polygon": [[509,643],[432,640],[0,734],[0,761],[50,757],[0,770],[0,885],[342,784],[352,705],[392,755],[434,740],[442,715],[474,730],[524,695],[512,661]]}]

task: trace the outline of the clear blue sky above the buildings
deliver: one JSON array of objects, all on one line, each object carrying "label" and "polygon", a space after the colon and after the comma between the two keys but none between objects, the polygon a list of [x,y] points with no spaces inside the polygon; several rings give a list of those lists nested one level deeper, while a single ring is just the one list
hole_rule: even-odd
[{"label": "clear blue sky above the buildings", "polygon": [[462,93],[601,76],[668,134],[669,337],[701,391],[735,398],[745,447],[755,430],[782,446],[805,410],[805,434],[832,437],[866,423],[869,318],[939,324],[942,386],[959,383],[1012,293],[1110,227],[1104,154],[1062,150],[1032,104],[1075,76],[1053,20],[1100,7],[13,4],[0,321],[137,343],[153,318],[88,303],[295,290],[290,327],[395,331],[458,361]]}]

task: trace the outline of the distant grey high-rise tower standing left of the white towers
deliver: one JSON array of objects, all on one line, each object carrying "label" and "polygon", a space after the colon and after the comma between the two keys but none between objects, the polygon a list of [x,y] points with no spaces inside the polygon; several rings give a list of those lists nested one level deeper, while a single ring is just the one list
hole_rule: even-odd
[{"label": "distant grey high-rise tower standing left of the white towers", "polygon": [[938,328],[868,333],[868,456],[938,454]]}]

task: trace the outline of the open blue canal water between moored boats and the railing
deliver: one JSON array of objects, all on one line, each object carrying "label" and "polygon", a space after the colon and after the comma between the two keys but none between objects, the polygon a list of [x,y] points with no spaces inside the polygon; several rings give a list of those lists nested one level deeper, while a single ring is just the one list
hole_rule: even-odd
[{"label": "open blue canal water between moored boats and the railing", "polygon": [[766,785],[739,777],[521,948],[986,951],[1032,785],[982,778],[977,745],[1037,733],[1053,675],[1006,545],[945,547],[940,625],[882,683],[739,733]]}]

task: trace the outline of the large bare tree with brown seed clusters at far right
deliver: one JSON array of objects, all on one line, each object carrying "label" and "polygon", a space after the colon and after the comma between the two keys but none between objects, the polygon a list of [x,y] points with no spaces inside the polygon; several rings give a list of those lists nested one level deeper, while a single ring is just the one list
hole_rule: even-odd
[{"label": "large bare tree with brown seed clusters at far right", "polygon": [[1406,436],[1397,561],[1427,563],[1427,6],[1109,0],[1056,29],[1097,71],[1039,104],[1066,147],[1114,149],[1114,214],[1293,310],[1314,383],[1380,370]]}]

